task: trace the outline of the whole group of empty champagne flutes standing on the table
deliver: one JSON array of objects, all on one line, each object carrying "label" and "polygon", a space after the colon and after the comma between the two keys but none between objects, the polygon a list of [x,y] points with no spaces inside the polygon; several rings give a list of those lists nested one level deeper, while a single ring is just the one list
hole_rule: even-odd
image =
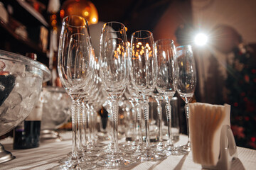
[{"label": "whole group of empty champagne flutes standing on the table", "polygon": [[[154,42],[153,34],[147,30],[132,33],[129,46],[125,26],[109,22],[102,28],[100,56],[95,57],[87,21],[80,16],[68,16],[63,20],[60,33],[58,73],[63,87],[73,100],[73,149],[71,154],[67,153],[68,156],[60,160],[62,165],[56,169],[94,169],[96,166],[113,169],[189,151],[189,135],[185,147],[174,147],[171,140],[169,101],[178,91],[186,102],[188,119],[188,101],[196,86],[191,46],[176,48],[172,40]],[[132,103],[139,128],[138,141],[125,149],[118,142],[119,99],[122,96]],[[169,140],[166,145],[159,142],[155,149],[150,146],[149,140],[149,96],[166,101]],[[106,101],[112,130],[110,145],[104,146],[92,140],[91,120]],[[142,113],[145,144],[142,138]],[[89,134],[86,131],[87,123]]]}]

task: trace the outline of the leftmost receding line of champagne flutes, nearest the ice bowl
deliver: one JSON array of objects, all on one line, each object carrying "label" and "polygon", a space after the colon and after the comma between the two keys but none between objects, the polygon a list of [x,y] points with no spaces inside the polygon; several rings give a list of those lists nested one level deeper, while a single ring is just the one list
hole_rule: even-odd
[{"label": "leftmost receding line of champagne flutes, nearest the ice bowl", "polygon": [[59,42],[58,73],[63,87],[73,101],[73,149],[71,154],[67,153],[67,157],[60,159],[62,165],[56,169],[96,167],[90,163],[97,159],[97,156],[90,155],[92,141],[86,141],[85,128],[86,123],[90,122],[92,108],[99,107],[104,101],[104,97],[100,97],[103,92],[97,68],[97,58],[92,49],[87,21],[80,16],[64,18]]}]

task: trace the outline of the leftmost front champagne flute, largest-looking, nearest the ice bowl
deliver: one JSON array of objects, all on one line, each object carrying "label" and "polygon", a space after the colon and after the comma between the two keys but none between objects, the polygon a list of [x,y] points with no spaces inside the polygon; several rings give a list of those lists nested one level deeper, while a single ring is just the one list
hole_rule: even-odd
[{"label": "leftmost front champagne flute, largest-looking, nearest the ice bowl", "polygon": [[[90,82],[91,59],[90,37],[85,18],[80,16],[67,16],[63,19],[58,50],[58,74],[67,93],[72,98],[72,154],[60,169],[93,168],[92,164],[80,162],[78,155],[78,115],[81,103],[80,93]],[[92,166],[91,166],[92,165]],[[58,169],[57,168],[57,169]]]}]

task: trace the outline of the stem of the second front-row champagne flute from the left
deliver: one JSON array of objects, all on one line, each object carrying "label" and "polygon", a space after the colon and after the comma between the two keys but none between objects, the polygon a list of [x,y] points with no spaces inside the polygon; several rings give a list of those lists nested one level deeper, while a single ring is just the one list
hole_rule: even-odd
[{"label": "stem of the second front-row champagne flute from the left", "polygon": [[118,153],[118,101],[112,103],[112,142],[114,143],[114,154]]}]

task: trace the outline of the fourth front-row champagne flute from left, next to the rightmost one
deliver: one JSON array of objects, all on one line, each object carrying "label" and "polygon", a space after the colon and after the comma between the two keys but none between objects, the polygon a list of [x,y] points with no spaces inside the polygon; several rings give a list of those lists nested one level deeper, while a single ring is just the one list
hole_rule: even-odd
[{"label": "fourth front-row champagne flute from left, next to the rightmost one", "polygon": [[174,57],[176,57],[176,48],[174,41],[170,39],[161,39],[155,42],[155,52],[158,62],[158,72],[156,79],[156,89],[166,101],[166,118],[168,125],[168,140],[164,148],[164,154],[177,155],[182,154],[174,147],[171,139],[171,104],[170,98],[176,93],[174,79]]}]

